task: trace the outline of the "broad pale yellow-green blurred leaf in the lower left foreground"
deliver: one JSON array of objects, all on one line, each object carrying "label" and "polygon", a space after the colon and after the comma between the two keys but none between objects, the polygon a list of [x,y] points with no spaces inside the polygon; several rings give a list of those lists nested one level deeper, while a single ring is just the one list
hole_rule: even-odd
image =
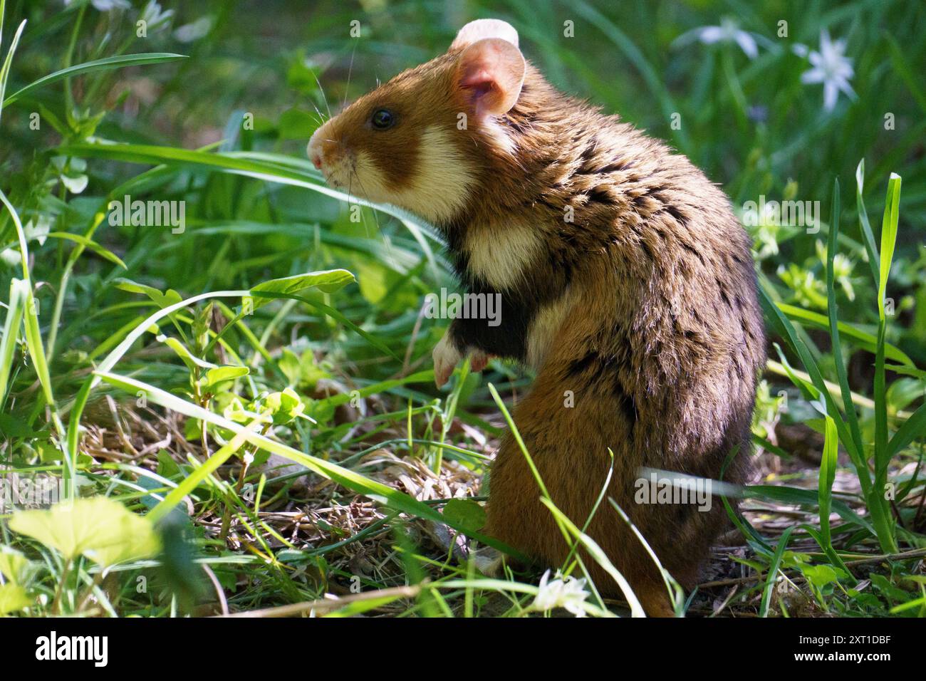
[{"label": "broad pale yellow-green blurred leaf in the lower left foreground", "polygon": [[159,549],[152,523],[108,497],[78,498],[43,511],[17,511],[9,528],[72,561],[86,556],[104,567],[149,558]]}]

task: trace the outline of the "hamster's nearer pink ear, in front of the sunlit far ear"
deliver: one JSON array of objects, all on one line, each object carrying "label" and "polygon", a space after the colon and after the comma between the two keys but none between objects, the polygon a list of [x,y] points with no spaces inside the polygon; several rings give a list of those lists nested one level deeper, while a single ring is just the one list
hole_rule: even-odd
[{"label": "hamster's nearer pink ear, in front of the sunlit far ear", "polygon": [[501,116],[518,101],[525,69],[524,57],[514,44],[483,38],[460,54],[457,86],[477,115]]}]

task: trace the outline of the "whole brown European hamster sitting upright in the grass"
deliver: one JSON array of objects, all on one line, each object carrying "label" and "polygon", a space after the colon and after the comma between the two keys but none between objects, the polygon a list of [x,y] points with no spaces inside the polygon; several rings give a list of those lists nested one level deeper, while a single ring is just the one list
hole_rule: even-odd
[{"label": "whole brown European hamster sitting upright in the grass", "polygon": [[[607,496],[693,587],[723,504],[699,511],[636,493],[645,467],[742,479],[765,338],[750,241],[720,189],[666,145],[557,92],[494,19],[327,121],[308,155],[328,183],[432,222],[466,290],[502,296],[500,324],[450,324],[434,348],[437,384],[467,355],[477,369],[490,356],[530,365],[514,421],[558,508],[585,523],[610,449]],[[485,531],[556,566],[569,547],[539,498],[507,436]],[[672,613],[654,562],[607,501],[587,532],[647,613]],[[619,593],[584,562],[602,593]]]}]

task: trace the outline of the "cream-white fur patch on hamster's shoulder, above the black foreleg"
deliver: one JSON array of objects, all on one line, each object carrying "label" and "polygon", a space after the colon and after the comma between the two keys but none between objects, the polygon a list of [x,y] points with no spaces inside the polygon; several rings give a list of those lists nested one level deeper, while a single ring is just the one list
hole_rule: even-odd
[{"label": "cream-white fur patch on hamster's shoulder, above the black foreleg", "polygon": [[525,272],[544,249],[540,229],[523,222],[479,227],[470,225],[463,243],[469,271],[498,290],[523,284]]}]

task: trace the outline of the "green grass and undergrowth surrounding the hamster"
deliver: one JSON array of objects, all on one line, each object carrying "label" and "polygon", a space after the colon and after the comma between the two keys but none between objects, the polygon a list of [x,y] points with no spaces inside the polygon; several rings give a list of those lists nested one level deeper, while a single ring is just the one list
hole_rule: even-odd
[{"label": "green grass and undergrowth surrounding the hamster", "polygon": [[[435,390],[446,322],[419,309],[456,285],[439,238],[328,188],[304,152],[329,107],[495,16],[557,86],[668,140],[739,214],[760,195],[830,207],[819,233],[751,228],[775,346],[759,478],[739,490],[741,511],[728,504],[745,551],[694,596],[666,575],[676,611],[711,614],[735,572],[746,579],[720,614],[926,614],[921,3],[518,0],[457,19],[443,3],[325,1],[280,3],[283,20],[246,3],[164,5],[173,27],[209,14],[211,30],[139,38],[138,7],[0,0],[3,480],[44,475],[65,498],[112,498],[157,536],[132,548],[113,529],[127,553],[110,564],[3,511],[0,611],[538,613],[549,589],[535,601],[537,571],[482,577],[453,549],[460,533],[516,553],[480,535],[478,486],[530,376],[496,361]],[[767,39],[756,59],[675,44],[725,17]],[[817,49],[824,29],[847,40],[857,93],[829,112],[791,50]],[[112,224],[125,195],[184,201],[185,231]],[[811,443],[809,459],[786,432]],[[588,524],[549,506],[574,548],[562,572],[599,561],[626,586]],[[600,498],[594,512],[622,511]],[[614,609],[584,587],[572,604],[586,614],[638,612],[629,589]]]}]

